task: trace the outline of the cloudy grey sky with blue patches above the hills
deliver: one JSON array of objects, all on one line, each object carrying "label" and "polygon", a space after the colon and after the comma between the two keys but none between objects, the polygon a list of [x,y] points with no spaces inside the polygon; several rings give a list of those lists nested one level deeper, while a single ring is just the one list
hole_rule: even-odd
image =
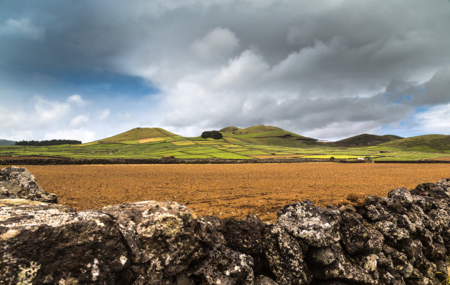
[{"label": "cloudy grey sky with blue patches above the hills", "polygon": [[0,139],[450,134],[449,0],[0,0]]}]

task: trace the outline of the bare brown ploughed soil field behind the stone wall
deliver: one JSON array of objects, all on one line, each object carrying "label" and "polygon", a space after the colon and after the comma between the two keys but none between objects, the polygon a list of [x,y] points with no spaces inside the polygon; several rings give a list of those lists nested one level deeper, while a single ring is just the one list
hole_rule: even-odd
[{"label": "bare brown ploughed soil field behind the stone wall", "polygon": [[450,177],[448,164],[284,163],[245,165],[24,166],[60,204],[98,209],[144,200],[176,201],[199,216],[274,221],[285,204],[336,205],[350,193],[386,196]]}]

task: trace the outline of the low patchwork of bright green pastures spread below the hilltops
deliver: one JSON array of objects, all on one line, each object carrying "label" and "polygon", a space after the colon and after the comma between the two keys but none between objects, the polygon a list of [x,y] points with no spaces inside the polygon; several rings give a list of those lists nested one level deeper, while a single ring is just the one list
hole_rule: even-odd
[{"label": "low patchwork of bright green pastures spread below the hilltops", "polygon": [[[180,144],[174,144],[180,140]],[[424,152],[401,147],[292,147],[282,145],[258,145],[242,140],[230,147],[226,139],[202,140],[199,138],[174,138],[172,142],[96,142],[83,145],[52,146],[0,146],[1,156],[47,156],[73,158],[226,158],[254,159],[253,155],[303,155],[305,158],[355,159],[370,156],[374,160],[434,160],[450,157],[448,152]],[[384,152],[380,152],[384,151]]]}]

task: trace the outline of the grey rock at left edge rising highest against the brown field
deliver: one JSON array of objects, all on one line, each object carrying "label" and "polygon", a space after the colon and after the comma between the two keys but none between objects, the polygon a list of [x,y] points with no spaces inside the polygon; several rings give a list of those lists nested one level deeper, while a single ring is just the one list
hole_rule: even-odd
[{"label": "grey rock at left edge rising highest against the brown field", "polygon": [[57,203],[56,195],[48,194],[36,183],[36,178],[21,167],[6,167],[0,170],[0,199],[29,199],[46,203]]}]

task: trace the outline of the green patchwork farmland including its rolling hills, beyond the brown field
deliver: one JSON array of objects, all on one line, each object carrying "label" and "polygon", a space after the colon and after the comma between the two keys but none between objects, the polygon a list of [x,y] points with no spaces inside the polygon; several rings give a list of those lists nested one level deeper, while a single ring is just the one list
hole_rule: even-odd
[{"label": "green patchwork farmland including its rolling hills, beyond the brown field", "polygon": [[[231,128],[231,129],[229,129]],[[51,156],[73,158],[322,158],[353,160],[436,160],[450,157],[450,136],[429,135],[394,140],[376,146],[336,147],[295,133],[263,125],[247,129],[229,127],[224,138],[184,138],[161,128],[136,128],[82,145],[1,145],[0,156]]]}]

